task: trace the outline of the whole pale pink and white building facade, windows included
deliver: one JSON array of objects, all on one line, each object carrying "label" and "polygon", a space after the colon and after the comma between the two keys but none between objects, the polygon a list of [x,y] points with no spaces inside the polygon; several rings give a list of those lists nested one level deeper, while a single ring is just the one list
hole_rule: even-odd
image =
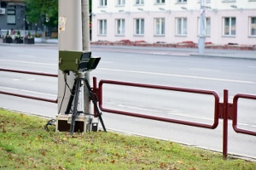
[{"label": "whole pale pink and white building facade, windows included", "polygon": [[92,42],[198,42],[205,13],[206,42],[256,44],[256,0],[95,0]]}]

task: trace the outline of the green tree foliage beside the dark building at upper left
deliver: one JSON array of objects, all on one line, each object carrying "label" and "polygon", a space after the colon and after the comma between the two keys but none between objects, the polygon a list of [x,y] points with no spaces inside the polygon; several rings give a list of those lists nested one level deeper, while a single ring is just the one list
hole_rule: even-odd
[{"label": "green tree foliage beside the dark building at upper left", "polygon": [[43,19],[46,26],[58,25],[58,0],[25,0],[26,17],[31,23]]}]

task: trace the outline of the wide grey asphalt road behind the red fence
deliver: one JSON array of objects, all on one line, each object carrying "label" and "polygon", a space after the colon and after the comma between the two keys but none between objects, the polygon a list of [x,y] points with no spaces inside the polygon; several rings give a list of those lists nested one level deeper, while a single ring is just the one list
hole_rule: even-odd
[{"label": "wide grey asphalt road behind the red fence", "polygon": [[[193,50],[93,46],[92,54],[101,56],[102,60],[96,71],[90,72],[90,76],[97,77],[98,81],[110,79],[207,89],[218,93],[221,101],[224,89],[228,89],[230,103],[236,94],[256,94],[256,59],[241,59],[241,55],[237,57],[237,54],[230,58],[234,51],[224,54],[223,51],[216,50],[209,51],[211,55],[208,56],[195,56],[196,52]],[[2,68],[57,74],[58,48],[55,45],[0,46],[0,51]],[[223,54],[224,58],[219,54]],[[247,55],[253,54],[250,52]],[[57,97],[55,77],[28,76],[3,71],[0,72],[0,77],[1,90],[47,99]],[[239,126],[255,132],[256,101],[241,100],[239,104]],[[214,99],[212,96],[201,94],[106,85],[103,91],[103,105],[120,111],[212,124]],[[3,94],[0,94],[0,107],[49,117],[55,117],[57,114],[55,104]],[[112,113],[103,113],[103,120],[109,129],[168,139],[210,150],[222,150],[221,120],[214,130]],[[229,153],[256,158],[255,142],[255,136],[235,133],[229,122]]]}]

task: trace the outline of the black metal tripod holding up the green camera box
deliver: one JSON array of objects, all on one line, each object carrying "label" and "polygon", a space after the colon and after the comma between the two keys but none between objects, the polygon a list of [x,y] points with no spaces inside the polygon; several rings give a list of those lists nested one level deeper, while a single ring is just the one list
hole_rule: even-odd
[{"label": "black metal tripod holding up the green camera box", "polygon": [[[65,114],[70,114],[70,110],[73,104],[73,112],[72,112],[72,121],[71,121],[71,125],[70,125],[70,134],[73,135],[74,132],[74,127],[75,127],[75,123],[76,123],[76,117],[79,116],[80,113],[83,113],[82,111],[78,111],[78,104],[79,104],[79,93],[80,93],[80,88],[82,86],[82,82],[85,82],[86,87],[88,88],[89,94],[90,94],[90,99],[94,105],[95,111],[97,113],[96,117],[99,117],[99,120],[102,124],[103,130],[105,132],[107,132],[106,127],[104,125],[104,122],[102,120],[102,112],[99,110],[97,102],[98,102],[98,98],[96,96],[95,93],[92,92],[89,82],[84,78],[84,75],[78,75],[76,76],[74,83],[73,83],[73,88],[72,88],[72,92],[68,101],[68,105],[67,105],[67,110],[65,112]],[[85,113],[88,114],[88,113]]]}]

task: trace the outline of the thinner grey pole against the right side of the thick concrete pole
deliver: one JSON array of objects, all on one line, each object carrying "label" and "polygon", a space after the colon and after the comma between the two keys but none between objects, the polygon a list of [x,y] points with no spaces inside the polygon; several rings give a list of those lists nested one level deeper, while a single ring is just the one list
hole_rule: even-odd
[{"label": "thinner grey pole against the right side of the thick concrete pole", "polygon": [[[89,14],[89,0],[82,0],[82,38],[83,51],[90,51],[90,14]],[[90,82],[90,72],[85,73],[85,78]],[[90,94],[86,86],[84,86],[84,112],[91,113],[90,110]]]}]

